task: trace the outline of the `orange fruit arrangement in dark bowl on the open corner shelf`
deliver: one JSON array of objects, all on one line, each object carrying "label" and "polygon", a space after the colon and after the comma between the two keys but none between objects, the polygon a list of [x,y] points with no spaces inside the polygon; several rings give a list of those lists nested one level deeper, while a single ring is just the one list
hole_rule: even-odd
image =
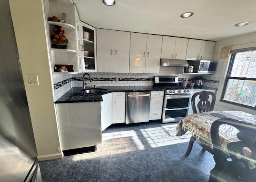
[{"label": "orange fruit arrangement in dark bowl on the open corner shelf", "polygon": [[67,49],[68,39],[63,27],[55,25],[51,35],[52,48]]}]

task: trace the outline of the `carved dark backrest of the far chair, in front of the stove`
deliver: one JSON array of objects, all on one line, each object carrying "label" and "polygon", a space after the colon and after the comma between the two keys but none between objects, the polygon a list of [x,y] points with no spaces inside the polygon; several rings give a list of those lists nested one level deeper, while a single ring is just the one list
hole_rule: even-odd
[{"label": "carved dark backrest of the far chair, in front of the stove", "polygon": [[[196,102],[196,97],[199,96],[199,102]],[[211,96],[211,102],[210,102],[210,96]],[[215,104],[215,94],[214,92],[208,92],[208,91],[202,91],[202,92],[196,92],[193,94],[191,99],[192,104],[192,110],[193,113],[200,113],[200,112],[209,112],[212,111]]]}]

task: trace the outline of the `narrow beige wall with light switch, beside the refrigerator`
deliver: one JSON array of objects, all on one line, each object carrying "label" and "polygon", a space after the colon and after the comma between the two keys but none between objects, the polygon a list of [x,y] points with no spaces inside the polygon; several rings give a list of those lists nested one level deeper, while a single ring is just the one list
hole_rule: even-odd
[{"label": "narrow beige wall with light switch, beside the refrigerator", "polygon": [[9,3],[23,78],[31,73],[39,77],[39,85],[25,84],[38,158],[60,158],[42,2],[9,0]]}]

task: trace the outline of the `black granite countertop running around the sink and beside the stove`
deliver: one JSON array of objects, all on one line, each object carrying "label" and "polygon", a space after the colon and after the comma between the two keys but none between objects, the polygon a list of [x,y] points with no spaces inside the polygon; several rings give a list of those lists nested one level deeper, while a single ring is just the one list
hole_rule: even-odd
[{"label": "black granite countertop running around the sink and beside the stove", "polygon": [[[86,87],[90,89],[93,87]],[[82,87],[72,87],[68,92],[56,100],[55,104],[60,103],[74,103],[74,102],[100,102],[102,100],[103,94],[108,94],[111,92],[150,92],[150,91],[162,91],[164,89],[158,88],[157,86],[109,86],[109,87],[96,87],[106,89],[102,92],[95,94],[87,94],[82,92]],[[195,86],[188,89],[192,90],[215,90],[215,88],[205,87],[205,86]]]}]

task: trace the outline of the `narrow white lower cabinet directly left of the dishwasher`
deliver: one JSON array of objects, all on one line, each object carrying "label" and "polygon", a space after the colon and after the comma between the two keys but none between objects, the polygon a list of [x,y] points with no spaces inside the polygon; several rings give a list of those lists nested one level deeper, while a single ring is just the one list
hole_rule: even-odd
[{"label": "narrow white lower cabinet directly left of the dishwasher", "polygon": [[125,122],[125,92],[112,93],[112,124]]}]

